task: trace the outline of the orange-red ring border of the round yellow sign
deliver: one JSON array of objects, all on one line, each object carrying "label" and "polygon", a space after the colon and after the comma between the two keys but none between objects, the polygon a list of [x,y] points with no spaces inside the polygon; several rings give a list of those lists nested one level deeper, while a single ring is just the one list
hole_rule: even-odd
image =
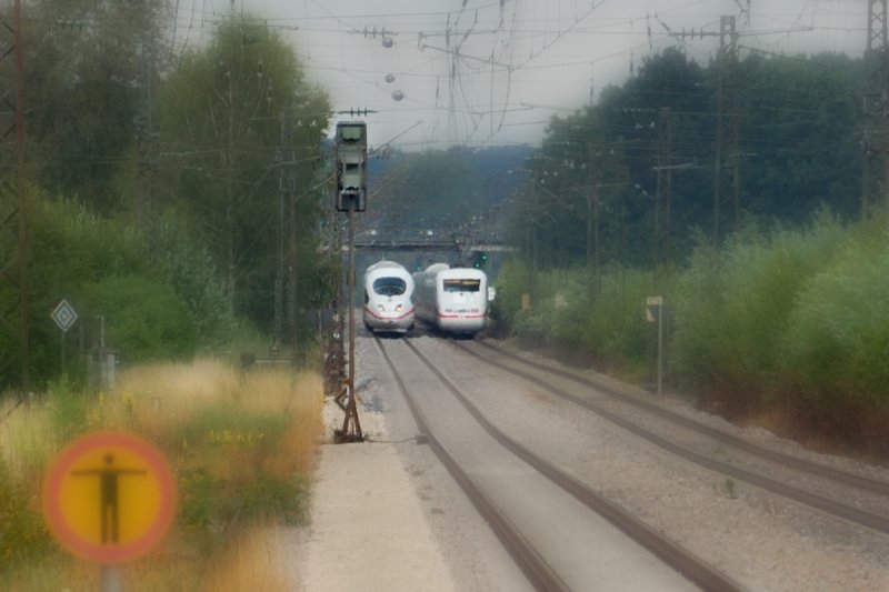
[{"label": "orange-red ring border of the round yellow sign", "polygon": [[[103,545],[71,530],[61,510],[61,484],[71,465],[97,448],[123,448],[138,454],[151,469],[160,488],[160,509],[151,526],[128,544]],[[167,534],[176,514],[176,481],[170,465],[147,440],[128,432],[97,432],[71,442],[56,458],[43,481],[43,515],[50,531],[73,554],[102,564],[124,563],[146,554]]]}]

